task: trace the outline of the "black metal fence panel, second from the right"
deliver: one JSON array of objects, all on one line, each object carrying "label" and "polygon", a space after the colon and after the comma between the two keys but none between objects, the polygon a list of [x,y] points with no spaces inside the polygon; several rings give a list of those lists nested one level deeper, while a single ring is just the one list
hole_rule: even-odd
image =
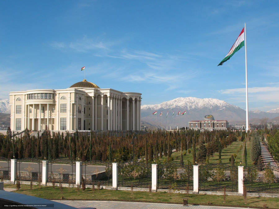
[{"label": "black metal fence panel, second from the right", "polygon": [[238,191],[238,168],[228,164],[208,164],[199,166],[199,190]]}]

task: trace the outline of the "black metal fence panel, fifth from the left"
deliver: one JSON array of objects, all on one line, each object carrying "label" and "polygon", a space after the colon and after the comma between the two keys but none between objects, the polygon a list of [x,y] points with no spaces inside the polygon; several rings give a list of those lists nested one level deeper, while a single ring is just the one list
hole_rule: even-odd
[{"label": "black metal fence panel, fifth from the left", "polygon": [[128,162],[118,165],[118,186],[148,188],[151,177],[151,164]]}]

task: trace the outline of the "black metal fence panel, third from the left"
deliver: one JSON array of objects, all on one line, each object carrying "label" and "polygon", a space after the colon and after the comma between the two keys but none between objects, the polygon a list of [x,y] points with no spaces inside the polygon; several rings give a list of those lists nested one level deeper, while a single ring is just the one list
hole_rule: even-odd
[{"label": "black metal fence panel, third from the left", "polygon": [[48,182],[76,183],[76,162],[56,159],[48,162]]}]

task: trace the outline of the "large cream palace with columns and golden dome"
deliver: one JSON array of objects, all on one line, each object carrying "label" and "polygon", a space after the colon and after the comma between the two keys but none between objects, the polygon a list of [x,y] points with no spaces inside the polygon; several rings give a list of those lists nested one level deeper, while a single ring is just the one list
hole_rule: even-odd
[{"label": "large cream palace with columns and golden dome", "polygon": [[67,89],[10,92],[11,130],[140,130],[141,94],[86,81]]}]

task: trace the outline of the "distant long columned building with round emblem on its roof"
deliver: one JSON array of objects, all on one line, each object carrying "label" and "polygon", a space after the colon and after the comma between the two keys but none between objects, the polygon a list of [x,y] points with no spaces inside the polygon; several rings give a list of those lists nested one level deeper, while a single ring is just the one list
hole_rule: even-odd
[{"label": "distant long columned building with round emblem on its roof", "polygon": [[227,130],[227,120],[215,120],[213,115],[204,116],[203,120],[191,120],[189,121],[189,128],[194,130],[205,129],[205,130]]}]

